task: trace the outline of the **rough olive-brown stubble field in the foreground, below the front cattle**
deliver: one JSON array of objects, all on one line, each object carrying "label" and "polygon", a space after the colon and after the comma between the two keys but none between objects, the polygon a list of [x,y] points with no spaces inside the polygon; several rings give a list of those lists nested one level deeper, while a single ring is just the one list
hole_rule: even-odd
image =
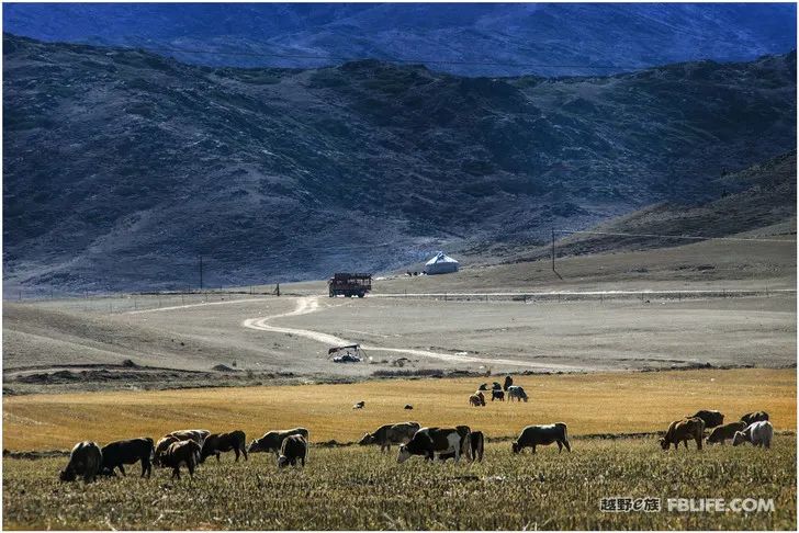
[{"label": "rough olive-brown stubble field in the foreground, below the front cattle", "polygon": [[[434,464],[376,446],[314,449],[305,468],[271,454],[205,462],[193,478],[60,483],[66,457],[3,461],[7,530],[788,530],[796,531],[796,438],[770,450],[661,451],[654,439],[577,439],[482,463]],[[659,498],[660,512],[601,512],[600,498]],[[678,512],[667,498],[764,498],[764,512]]]}]

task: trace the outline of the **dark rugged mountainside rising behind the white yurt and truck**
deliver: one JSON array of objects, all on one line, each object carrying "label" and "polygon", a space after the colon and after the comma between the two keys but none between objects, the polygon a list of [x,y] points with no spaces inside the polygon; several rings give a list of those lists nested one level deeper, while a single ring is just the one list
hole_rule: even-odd
[{"label": "dark rugged mountainside rising behind the white yurt and truck", "polygon": [[3,36],[4,286],[384,271],[534,241],[796,147],[796,53],[594,77],[245,69]]}]

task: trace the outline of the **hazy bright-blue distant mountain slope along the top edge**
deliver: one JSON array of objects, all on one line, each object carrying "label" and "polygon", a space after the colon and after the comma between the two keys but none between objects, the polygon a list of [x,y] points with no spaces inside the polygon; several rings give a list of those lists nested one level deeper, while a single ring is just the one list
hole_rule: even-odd
[{"label": "hazy bright-blue distant mountain slope along the top edge", "polygon": [[[425,59],[432,69],[465,76],[607,75],[786,53],[796,47],[796,5],[11,3],[3,5],[3,27],[50,42],[140,46],[203,65]],[[619,68],[586,68],[608,65]]]}]

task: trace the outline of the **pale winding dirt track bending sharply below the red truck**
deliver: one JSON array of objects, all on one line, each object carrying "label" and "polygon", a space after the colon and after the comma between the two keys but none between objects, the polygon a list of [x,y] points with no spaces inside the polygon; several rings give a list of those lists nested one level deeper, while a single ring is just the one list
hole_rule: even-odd
[{"label": "pale winding dirt track bending sharply below the red truck", "polygon": [[[268,317],[248,318],[243,322],[245,328],[257,329],[260,331],[270,331],[274,333],[291,333],[297,337],[304,337],[306,339],[315,340],[331,345],[347,345],[355,344],[353,341],[342,339],[320,331],[313,331],[310,329],[297,329],[286,328],[281,326],[272,326],[270,322],[277,318],[295,317],[300,315],[308,315],[319,310],[319,297],[318,296],[304,296],[296,298],[296,308],[289,313],[282,313],[280,315],[271,315]],[[541,364],[528,361],[518,361],[513,359],[493,359],[493,358],[476,358],[472,355],[461,355],[454,353],[441,353],[432,352],[429,350],[418,350],[413,348],[386,348],[378,345],[361,344],[363,350],[376,351],[376,352],[391,352],[391,353],[404,353],[407,355],[415,355],[418,358],[437,359],[440,361],[447,361],[449,363],[473,363],[473,364],[502,364],[513,366],[525,366],[530,368],[552,368],[563,371],[577,371],[581,370],[577,366],[570,366],[563,364]]]}]

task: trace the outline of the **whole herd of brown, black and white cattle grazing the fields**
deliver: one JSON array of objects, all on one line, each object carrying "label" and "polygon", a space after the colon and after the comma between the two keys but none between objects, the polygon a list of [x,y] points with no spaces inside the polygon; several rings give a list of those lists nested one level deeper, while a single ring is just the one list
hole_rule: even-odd
[{"label": "whole herd of brown, black and white cattle grazing the fields", "polygon": [[[491,390],[492,401],[498,399],[504,401],[507,395],[519,401],[527,401],[528,396],[525,389],[513,385],[510,376],[505,378],[505,384],[494,383],[488,389],[487,384],[482,384],[475,394],[469,398],[472,406],[485,406],[484,392]],[[363,404],[363,402],[359,402]],[[358,404],[357,404],[358,405]],[[359,408],[363,408],[361,405]],[[407,408],[407,406],[406,406]],[[710,431],[706,438],[705,432]],[[660,439],[663,450],[669,450],[674,445],[678,449],[679,443],[688,449],[688,441],[693,440],[697,449],[702,449],[702,442],[707,444],[724,444],[732,440],[732,445],[738,446],[750,442],[755,446],[770,447],[774,438],[774,428],[768,421],[768,413],[765,411],[750,412],[741,417],[741,420],[724,423],[724,415],[714,410],[700,410],[695,415],[675,420],[668,426],[664,436]],[[82,476],[85,481],[91,481],[97,476],[115,476],[115,470],[125,475],[125,465],[142,464],[142,477],[150,477],[153,465],[171,468],[172,478],[180,478],[180,467],[184,466],[189,475],[194,475],[199,464],[212,455],[220,456],[225,452],[234,452],[236,461],[244,455],[248,461],[251,453],[273,453],[278,467],[288,465],[295,466],[297,462],[305,466],[308,453],[308,430],[295,428],[291,430],[268,431],[260,439],[256,439],[246,445],[244,431],[236,430],[229,433],[211,433],[207,430],[181,430],[164,435],[154,443],[150,438],[138,438],[112,442],[102,449],[94,442],[79,442],[72,449],[67,467],[60,473],[60,479],[71,481],[77,476]],[[519,436],[513,441],[513,453],[521,453],[524,449],[532,449],[536,453],[537,446],[558,444],[559,451],[565,447],[572,451],[569,442],[566,424],[555,422],[551,424],[528,426]],[[398,422],[381,426],[373,433],[367,433],[359,441],[361,445],[378,444],[381,452],[391,452],[392,445],[400,446],[397,463],[404,463],[413,455],[424,456],[432,461],[438,456],[441,461],[454,458],[455,463],[464,457],[466,461],[483,461],[484,436],[483,432],[472,430],[469,426],[457,426],[454,428],[423,428],[418,422]]]}]

